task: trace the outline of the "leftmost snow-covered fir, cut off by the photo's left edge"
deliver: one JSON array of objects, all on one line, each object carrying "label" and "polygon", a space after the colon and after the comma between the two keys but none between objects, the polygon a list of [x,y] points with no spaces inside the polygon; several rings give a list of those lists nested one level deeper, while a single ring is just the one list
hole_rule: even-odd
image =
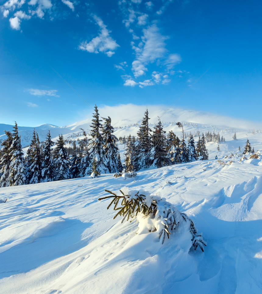
[{"label": "leftmost snow-covered fir, cut off by the photo's left edge", "polygon": [[0,159],[0,187],[8,187],[10,182],[8,180],[10,174],[10,162],[11,162],[11,155],[10,147],[13,142],[12,133],[9,131],[5,131],[7,138],[2,142],[1,148],[1,159]]}]

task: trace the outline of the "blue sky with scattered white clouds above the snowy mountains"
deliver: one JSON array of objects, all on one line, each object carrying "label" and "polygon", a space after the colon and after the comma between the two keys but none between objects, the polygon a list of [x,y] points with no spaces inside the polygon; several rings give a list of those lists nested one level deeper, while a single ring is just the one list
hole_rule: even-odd
[{"label": "blue sky with scattered white clouds above the snowy mountains", "polygon": [[0,4],[0,123],[83,120],[75,91],[90,106],[169,107],[210,66],[174,106],[262,122],[261,1]]}]

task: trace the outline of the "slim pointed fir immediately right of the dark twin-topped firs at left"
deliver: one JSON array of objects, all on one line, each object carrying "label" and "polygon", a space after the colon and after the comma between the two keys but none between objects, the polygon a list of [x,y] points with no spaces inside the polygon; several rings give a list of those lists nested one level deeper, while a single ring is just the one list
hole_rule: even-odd
[{"label": "slim pointed fir immediately right of the dark twin-topped firs at left", "polygon": [[52,149],[51,147],[55,143],[51,140],[50,130],[48,131],[46,140],[43,143],[42,148],[42,174],[41,174],[41,181],[43,182],[51,182],[55,176],[54,170],[54,162],[52,157]]}]

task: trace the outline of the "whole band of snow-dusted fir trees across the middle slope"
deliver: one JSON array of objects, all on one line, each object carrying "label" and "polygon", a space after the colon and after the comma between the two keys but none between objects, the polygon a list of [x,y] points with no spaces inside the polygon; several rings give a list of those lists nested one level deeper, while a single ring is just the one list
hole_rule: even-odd
[{"label": "whole band of snow-dusted fir trees across the middle slope", "polygon": [[[120,138],[122,143],[124,140],[126,143],[124,164],[126,172],[208,159],[204,134],[199,136],[195,146],[191,133],[186,143],[184,136],[180,140],[173,131],[166,135],[160,119],[152,131],[149,127],[149,119],[148,110],[146,110],[137,139],[131,135],[128,138]],[[81,129],[82,139],[78,138],[77,141],[67,139],[66,142],[72,143],[69,148],[65,147],[62,135],[59,135],[55,145],[51,140],[50,131],[46,140],[40,143],[38,134],[34,130],[26,156],[23,154],[15,123],[13,132],[5,131],[7,138],[2,141],[0,187],[59,181],[89,175],[95,177],[99,174],[122,171],[123,166],[117,147],[118,140],[113,134],[111,118],[103,118],[103,124],[101,122],[97,106],[95,106],[90,125],[90,138],[88,139],[87,133]]]}]

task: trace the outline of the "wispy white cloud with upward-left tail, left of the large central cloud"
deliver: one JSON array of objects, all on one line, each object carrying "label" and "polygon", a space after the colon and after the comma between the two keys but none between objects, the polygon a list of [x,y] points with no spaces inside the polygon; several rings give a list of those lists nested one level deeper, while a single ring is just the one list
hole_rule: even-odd
[{"label": "wispy white cloud with upward-left tail, left of the large central cloud", "polygon": [[108,31],[101,18],[94,16],[94,20],[100,27],[100,34],[88,43],[87,41],[82,42],[78,48],[90,53],[103,52],[107,54],[108,57],[111,57],[115,54],[114,50],[119,47],[119,45],[109,36],[110,31]]}]

